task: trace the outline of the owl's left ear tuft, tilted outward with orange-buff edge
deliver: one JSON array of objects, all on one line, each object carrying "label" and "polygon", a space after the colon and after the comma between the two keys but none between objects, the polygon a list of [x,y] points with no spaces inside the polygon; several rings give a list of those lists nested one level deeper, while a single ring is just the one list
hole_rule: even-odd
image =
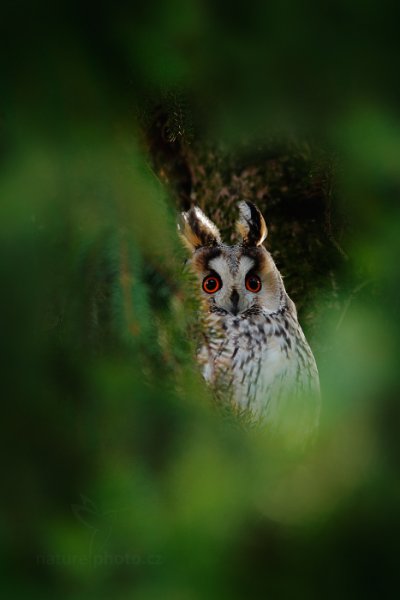
[{"label": "owl's left ear tuft, tilted outward with orange-buff edge", "polygon": [[194,252],[203,246],[217,246],[222,243],[218,227],[206,217],[198,206],[182,213],[182,225],[178,225],[181,238]]}]

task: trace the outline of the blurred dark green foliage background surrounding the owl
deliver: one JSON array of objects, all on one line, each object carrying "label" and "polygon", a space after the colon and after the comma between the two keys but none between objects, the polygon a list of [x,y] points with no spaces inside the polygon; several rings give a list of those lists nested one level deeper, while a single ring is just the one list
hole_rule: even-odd
[{"label": "blurred dark green foliage background surrounding the owl", "polygon": [[[393,597],[399,12],[2,3],[2,597]],[[320,369],[301,455],[193,358],[176,214],[243,197]]]}]

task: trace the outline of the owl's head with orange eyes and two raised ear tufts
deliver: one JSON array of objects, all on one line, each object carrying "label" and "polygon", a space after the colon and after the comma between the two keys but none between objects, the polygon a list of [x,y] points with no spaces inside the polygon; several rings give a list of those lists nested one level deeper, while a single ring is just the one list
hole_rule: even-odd
[{"label": "owl's head with orange eyes and two raised ear tufts", "polygon": [[[221,315],[277,311],[286,296],[282,278],[264,248],[267,226],[251,202],[239,203],[238,244],[223,243],[216,225],[198,207],[182,213],[180,234],[209,310]],[[249,311],[249,313],[247,313]]]}]

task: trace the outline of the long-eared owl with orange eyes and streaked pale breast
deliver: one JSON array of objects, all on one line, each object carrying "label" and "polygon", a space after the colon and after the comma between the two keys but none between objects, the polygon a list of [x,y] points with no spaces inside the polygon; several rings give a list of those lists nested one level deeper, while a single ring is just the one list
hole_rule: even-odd
[{"label": "long-eared owl with orange eyes and streaked pale breast", "polygon": [[[226,245],[198,207],[182,213],[204,314],[198,360],[205,380],[251,420],[307,438],[319,420],[317,365],[282,276],[263,246],[267,226],[239,203],[239,242]],[[220,394],[221,395],[221,394]]]}]

